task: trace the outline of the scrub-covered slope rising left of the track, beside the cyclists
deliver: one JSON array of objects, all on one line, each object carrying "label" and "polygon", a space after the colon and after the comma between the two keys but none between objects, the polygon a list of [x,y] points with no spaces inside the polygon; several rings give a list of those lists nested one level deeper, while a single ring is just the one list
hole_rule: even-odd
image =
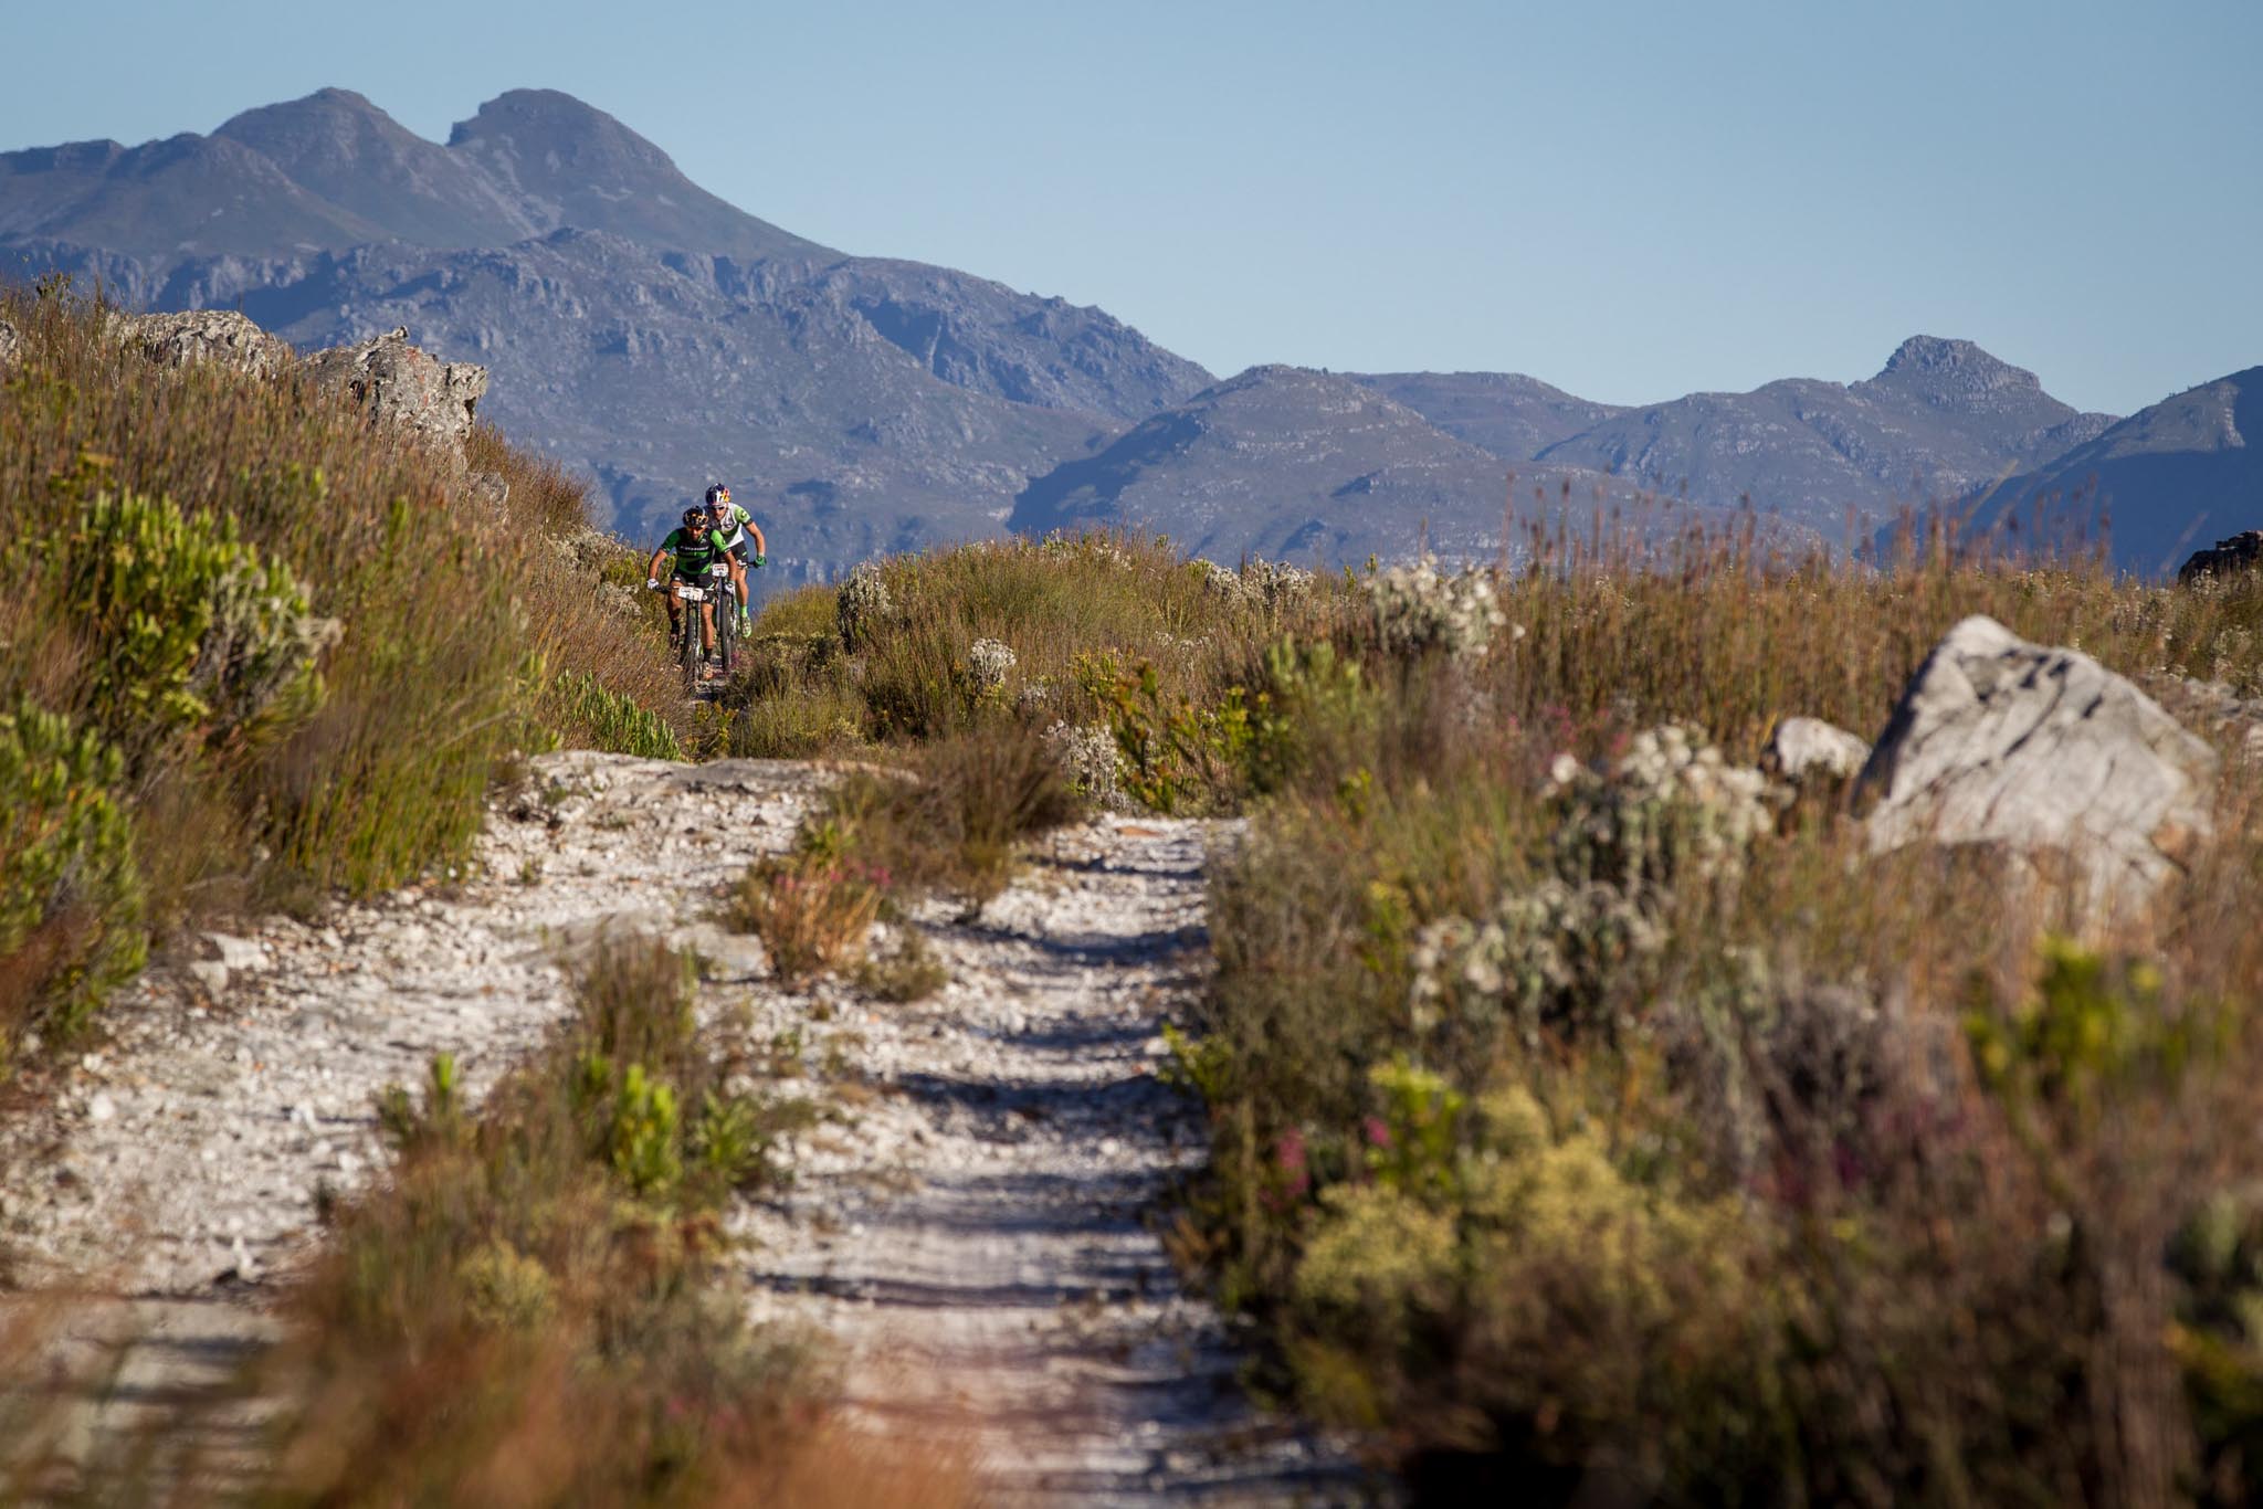
[{"label": "scrub-covered slope rising left of the track, beside the cyclists", "polygon": [[674,747],[652,645],[557,536],[296,378],[163,371],[68,290],[0,292],[0,1054],[181,919],[459,862],[496,762]]}]

